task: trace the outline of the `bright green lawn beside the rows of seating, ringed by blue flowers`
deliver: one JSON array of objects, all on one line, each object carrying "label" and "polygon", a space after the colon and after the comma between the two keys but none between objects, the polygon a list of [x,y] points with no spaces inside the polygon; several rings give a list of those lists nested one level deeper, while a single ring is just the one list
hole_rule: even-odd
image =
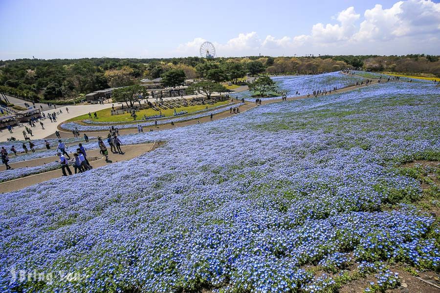
[{"label": "bright green lawn beside the rows of seating, ringed by blue flowers", "polygon": [[[229,100],[226,100],[224,102],[219,102],[214,105],[195,105],[195,106],[176,108],[176,111],[177,112],[188,111],[188,114],[191,114],[195,111],[205,109],[206,106],[208,106],[208,109],[209,109],[209,108],[213,108],[213,107],[216,107],[219,105],[226,105],[228,103],[229,103]],[[111,110],[111,108],[97,111],[96,114],[98,115],[98,119],[94,119],[93,113],[92,113],[91,119],[88,117],[88,114],[84,114],[84,115],[69,119],[67,121],[80,121],[80,120],[86,120],[86,119],[93,120],[93,121],[100,121],[100,122],[131,122],[131,121],[133,121],[133,117],[130,116],[130,113],[111,115],[110,110]],[[142,117],[144,117],[144,115],[153,116],[154,114],[158,115],[159,112],[155,111],[154,109],[151,109],[151,108],[145,109],[145,110],[140,110],[139,112],[136,112],[136,115],[137,115],[136,120],[142,119]],[[174,109],[162,110],[162,114],[167,117],[172,117],[172,116],[174,116]]]}]

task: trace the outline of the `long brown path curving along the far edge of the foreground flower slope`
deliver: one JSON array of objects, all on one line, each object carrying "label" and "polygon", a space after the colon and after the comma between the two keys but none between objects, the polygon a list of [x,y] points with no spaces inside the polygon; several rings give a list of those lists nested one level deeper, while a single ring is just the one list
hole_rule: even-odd
[{"label": "long brown path curving along the far edge of the foreground flower slope", "polygon": [[[367,80],[367,78],[365,78],[365,80]],[[390,82],[395,82],[395,81],[390,81]],[[384,83],[384,82],[383,82]],[[343,93],[346,91],[350,91],[353,89],[357,89],[360,87],[365,87],[365,86],[370,86],[373,84],[377,84],[377,80],[373,80],[373,82],[369,85],[353,85],[353,86],[348,86],[348,87],[344,87],[341,89],[338,89],[336,92],[335,91],[331,91],[331,94],[327,94],[327,96],[331,96],[333,94],[338,94],[338,93]],[[233,94],[232,94],[233,96]],[[310,97],[308,97],[307,95],[304,96],[298,96],[298,97],[288,97],[287,100],[291,101],[291,100],[300,100],[300,99],[313,99],[315,98],[313,95],[310,95]],[[234,102],[236,103],[240,103],[241,101],[236,101],[234,100]],[[278,103],[278,102],[282,102],[281,99],[275,99],[275,100],[266,100],[266,101],[262,101],[261,105],[266,105],[266,104],[271,104],[271,103]],[[232,105],[234,106],[234,105]],[[254,102],[245,102],[245,105],[240,106],[240,113],[251,109],[253,107],[257,106]],[[234,113],[230,113],[229,111],[224,111],[221,112],[219,114],[214,115],[213,120],[219,120],[219,119],[223,119],[226,117],[230,117],[233,115],[239,115],[239,114],[234,114]],[[175,125],[171,125],[171,124],[163,124],[163,125],[159,125],[158,127],[154,128],[154,126],[150,126],[150,127],[144,127],[144,131],[156,131],[156,130],[165,130],[165,129],[172,129],[172,128],[177,128],[177,127],[182,127],[182,126],[188,126],[188,125],[195,125],[198,123],[206,123],[206,122],[210,122],[211,119],[209,116],[206,117],[201,117],[198,119],[193,119],[193,120],[188,120],[188,121],[184,121],[184,122],[177,122],[175,123]],[[61,137],[73,137],[73,134],[71,132],[66,132],[66,130],[63,130],[61,127],[61,124],[58,126],[58,130],[61,133]],[[107,136],[107,132],[108,131],[81,131],[81,132],[86,132],[88,134],[88,136]],[[119,134],[120,135],[124,135],[124,134],[130,134],[130,133],[137,133],[137,129],[136,128],[129,128],[129,129],[121,129],[119,130]],[[56,138],[55,134],[52,134],[50,136],[48,136],[47,138]]]}]

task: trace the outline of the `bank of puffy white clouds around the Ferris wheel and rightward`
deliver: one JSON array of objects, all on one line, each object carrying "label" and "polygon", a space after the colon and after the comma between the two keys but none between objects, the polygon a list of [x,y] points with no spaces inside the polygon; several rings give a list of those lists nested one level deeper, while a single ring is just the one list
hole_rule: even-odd
[{"label": "bank of puffy white clouds around the Ferris wheel and rightward", "polygon": [[[354,7],[332,17],[338,23],[316,23],[310,34],[272,35],[260,39],[256,32],[240,33],[224,44],[215,43],[219,56],[304,54],[438,54],[440,3],[431,0],[398,1],[390,8],[376,4],[363,17]],[[425,40],[429,40],[426,42]],[[179,45],[179,52],[195,55],[204,39]],[[422,47],[419,42],[425,41]]]}]

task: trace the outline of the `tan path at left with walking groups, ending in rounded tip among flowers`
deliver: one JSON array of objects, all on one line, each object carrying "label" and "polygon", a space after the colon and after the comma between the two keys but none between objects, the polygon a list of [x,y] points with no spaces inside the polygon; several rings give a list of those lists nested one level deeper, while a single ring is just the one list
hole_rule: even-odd
[{"label": "tan path at left with walking groups, ending in rounded tip among flowers", "polygon": [[[105,157],[99,153],[99,149],[93,149],[87,151],[88,157],[97,157],[98,159],[96,161],[90,162],[90,165],[93,168],[106,166],[113,162],[119,162],[119,161],[126,161],[130,160],[134,157],[140,156],[146,152],[152,151],[156,149],[159,146],[162,146],[163,142],[155,142],[151,144],[139,144],[139,145],[127,145],[127,146],[121,146],[122,151],[124,151],[124,154],[113,154],[109,150],[109,161],[106,162]],[[19,167],[32,167],[32,166],[40,166],[44,165],[44,163],[51,163],[55,160],[58,160],[58,156],[54,157],[47,157],[47,158],[41,158],[41,159],[35,159],[35,160],[29,160],[24,162],[18,162],[11,164],[11,167],[13,168],[19,168]],[[70,170],[72,173],[74,172],[73,167],[70,167]],[[22,188],[41,183],[50,179],[58,178],[63,175],[61,169],[48,171],[40,174],[30,175],[23,178],[18,178],[11,181],[6,181],[3,183],[0,183],[0,190],[2,193],[4,192],[10,192],[14,190],[20,190]]]}]

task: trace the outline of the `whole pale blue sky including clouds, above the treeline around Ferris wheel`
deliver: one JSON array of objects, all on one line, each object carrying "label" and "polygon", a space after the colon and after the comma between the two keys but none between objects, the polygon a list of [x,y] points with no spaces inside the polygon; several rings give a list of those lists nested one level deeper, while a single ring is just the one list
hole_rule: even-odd
[{"label": "whole pale blue sky including clouds, above the treeline around Ferris wheel", "polygon": [[[377,5],[379,4],[379,5]],[[0,0],[0,59],[440,54],[439,1]]]}]

